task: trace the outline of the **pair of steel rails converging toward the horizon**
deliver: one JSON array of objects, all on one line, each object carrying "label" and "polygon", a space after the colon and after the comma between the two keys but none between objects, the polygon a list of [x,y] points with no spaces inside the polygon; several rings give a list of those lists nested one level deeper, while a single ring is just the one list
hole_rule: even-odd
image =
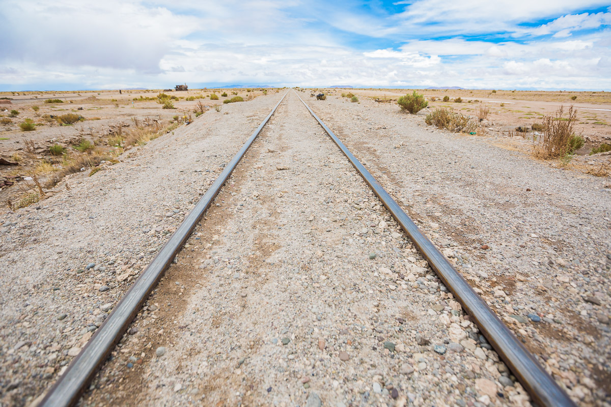
[{"label": "pair of steel rails converging toward the horizon", "polygon": [[[289,91],[290,92],[290,91]],[[159,250],[153,261],[141,273],[130,290],[126,292],[122,300],[115,306],[112,313],[98,328],[93,337],[87,342],[78,356],[59,377],[57,382],[49,389],[40,403],[41,406],[70,406],[78,402],[81,394],[87,389],[90,381],[97,371],[103,366],[109,353],[122,338],[130,326],[134,317],[142,308],[152,290],[155,289],[159,279],[177,256],[183,245],[191,236],[191,233],[200,222],[203,214],[213,203],[214,198],[221,191],[223,185],[232,175],[244,154],[254,143],[264,126],[276,112],[288,92],[274,106],[269,115],[262,121],[260,126],[252,133],[244,146],[236,153],[232,160],[224,167],[221,175],[214,181],[210,189],[202,196],[194,209],[187,215],[178,227],[177,231],[167,240],[166,244]],[[296,96],[297,93],[295,93]],[[412,222],[401,207],[373,178],[359,160],[354,157],[345,145],[335,136],[305,102],[299,98],[309,110],[312,117],[324,129],[324,132],[340,148],[349,162],[356,168],[360,176],[369,185],[379,201],[386,207],[392,217],[407,234],[417,250],[426,259],[437,276],[452,292],[456,300],[463,306],[464,311],[471,316],[479,330],[498,353],[500,358],[507,364],[511,372],[518,378],[524,389],[529,392],[533,402],[541,406],[574,406],[574,403],[566,395],[558,384],[549,376],[543,367],[536,361],[535,357],[527,351],[513,333],[505,326],[496,314],[488,307],[484,300],[479,297],[461,275],[453,268],[443,254],[434,247],[433,243]]]}]

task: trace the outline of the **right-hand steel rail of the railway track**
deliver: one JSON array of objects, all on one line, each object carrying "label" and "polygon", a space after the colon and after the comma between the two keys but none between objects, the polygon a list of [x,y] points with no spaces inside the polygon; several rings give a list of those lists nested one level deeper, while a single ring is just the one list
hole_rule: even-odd
[{"label": "right-hand steel rail of the railway track", "polygon": [[[297,93],[295,93],[297,95]],[[499,353],[499,356],[507,364],[511,372],[518,378],[522,386],[529,392],[530,397],[540,406],[550,407],[576,407],[556,381],[547,374],[543,366],[535,359],[522,342],[503,324],[497,315],[488,307],[484,301],[465,281],[465,279],[445,259],[444,255],[433,245],[418,226],[401,209],[389,193],[382,188],[364,165],[349,151],[340,139],[329,129],[323,121],[316,116],[307,104],[297,95],[301,103],[309,110],[310,114],[318,121],[335,144],[342,150],[351,164],[359,171],[360,176],[367,182],[373,192],[378,196],[382,204],[390,212],[393,218],[401,226],[409,238],[414,242],[422,256],[428,261],[437,276],[444,282],[452,294],[462,304],[463,309],[471,315],[481,333],[488,339],[489,344]]]}]

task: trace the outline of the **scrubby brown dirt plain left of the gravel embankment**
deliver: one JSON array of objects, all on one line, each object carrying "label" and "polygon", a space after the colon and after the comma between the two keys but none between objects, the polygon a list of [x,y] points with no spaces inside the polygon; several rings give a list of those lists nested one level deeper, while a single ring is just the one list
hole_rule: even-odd
[{"label": "scrubby brown dirt plain left of the gravel embankment", "polygon": [[[33,175],[40,178],[45,194],[53,193],[57,175],[74,162],[87,162],[89,158],[93,165],[100,159],[111,160],[133,147],[126,143],[130,136],[135,140],[139,132],[163,134],[164,130],[189,123],[196,117],[199,103],[205,111],[223,106],[223,101],[233,96],[249,100],[264,91],[268,92],[262,89],[0,92],[0,159],[4,159],[0,161],[0,214],[10,207],[15,209],[32,202],[29,197],[38,193],[38,187],[29,179]],[[224,92],[227,97],[222,96]],[[163,109],[163,104],[158,103],[159,93],[169,95],[175,108]],[[212,93],[219,99],[211,100]],[[60,99],[62,103],[45,103],[48,99]],[[11,115],[11,110],[18,114]],[[82,118],[74,124],[60,124],[57,117],[66,113]],[[26,120],[35,123],[34,131],[21,130],[20,124]],[[82,140],[89,141],[92,148],[79,151]],[[64,148],[64,153],[51,154],[49,148],[55,145]]]}]

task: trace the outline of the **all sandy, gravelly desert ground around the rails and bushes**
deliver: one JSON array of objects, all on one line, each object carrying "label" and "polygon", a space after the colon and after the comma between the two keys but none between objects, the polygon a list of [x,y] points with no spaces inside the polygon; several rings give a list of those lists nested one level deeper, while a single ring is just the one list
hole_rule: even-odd
[{"label": "all sandy, gravelly desert ground around the rails and bushes", "polygon": [[[86,120],[4,126],[2,157],[23,157],[1,167],[12,182],[3,201],[36,192],[25,178],[42,161],[58,168],[41,169],[43,181],[65,165],[49,154],[55,143],[68,159],[107,159],[0,215],[0,403],[40,400],[288,92],[82,405],[530,405],[293,90],[255,90],[243,103],[180,99],[176,110],[133,101],[158,91],[130,92],[6,96],[15,123],[72,110]],[[464,99],[432,108],[492,106],[485,135],[466,135],[376,101],[397,90],[326,90],[324,101],[316,92],[299,95],[560,386],[579,405],[611,405],[611,180],[588,174],[611,156],[587,155],[609,137],[607,93],[426,91]],[[200,100],[210,106],[202,115],[174,120]],[[536,160],[532,139],[508,137],[569,101],[589,139],[570,162]],[[159,137],[109,145],[120,124],[125,140]],[[82,139],[96,148],[74,149]]]}]

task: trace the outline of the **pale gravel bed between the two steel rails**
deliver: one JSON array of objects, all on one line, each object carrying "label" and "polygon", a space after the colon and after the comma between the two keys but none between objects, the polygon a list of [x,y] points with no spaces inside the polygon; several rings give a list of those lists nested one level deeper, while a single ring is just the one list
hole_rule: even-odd
[{"label": "pale gravel bed between the two steel rails", "polygon": [[294,93],[83,405],[529,405]]}]

